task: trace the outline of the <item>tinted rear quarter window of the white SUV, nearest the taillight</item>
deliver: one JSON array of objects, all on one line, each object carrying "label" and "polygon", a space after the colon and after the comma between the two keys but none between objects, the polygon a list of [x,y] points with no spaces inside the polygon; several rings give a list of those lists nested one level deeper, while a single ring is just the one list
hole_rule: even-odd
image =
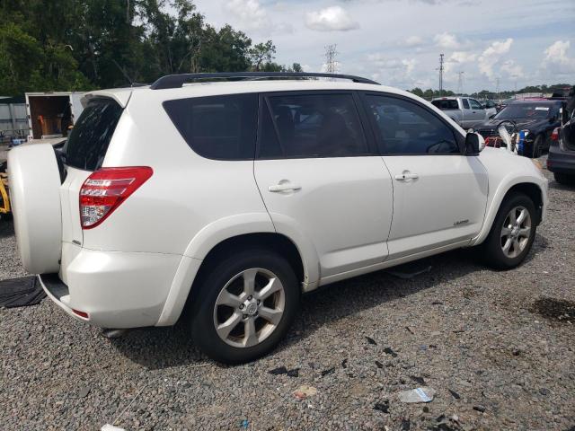
[{"label": "tinted rear quarter window of the white SUV, nearest the taillight", "polygon": [[181,136],[208,159],[247,160],[255,153],[257,94],[195,97],[164,101]]}]

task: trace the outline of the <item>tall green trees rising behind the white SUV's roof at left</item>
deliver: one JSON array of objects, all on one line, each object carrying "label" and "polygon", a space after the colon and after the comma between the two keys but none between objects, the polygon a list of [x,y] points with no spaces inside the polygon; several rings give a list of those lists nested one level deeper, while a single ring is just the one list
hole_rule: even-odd
[{"label": "tall green trees rising behind the white SUV's roof at left", "polygon": [[295,71],[191,0],[0,0],[0,95],[152,83],[195,72]]}]

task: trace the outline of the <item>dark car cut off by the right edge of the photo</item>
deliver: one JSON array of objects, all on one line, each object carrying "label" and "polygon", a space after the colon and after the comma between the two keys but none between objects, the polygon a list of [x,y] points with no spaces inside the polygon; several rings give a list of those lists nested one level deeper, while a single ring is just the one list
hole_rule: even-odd
[{"label": "dark car cut off by the right edge of the photo", "polygon": [[571,112],[570,121],[553,133],[547,169],[553,172],[557,182],[575,184],[575,110]]}]

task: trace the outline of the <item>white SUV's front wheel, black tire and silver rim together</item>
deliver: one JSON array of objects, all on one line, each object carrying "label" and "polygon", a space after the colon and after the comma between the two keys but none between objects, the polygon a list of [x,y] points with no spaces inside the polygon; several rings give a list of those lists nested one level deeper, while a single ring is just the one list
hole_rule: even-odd
[{"label": "white SUV's front wheel, black tire and silver rim together", "polygon": [[501,204],[485,242],[482,256],[497,269],[515,268],[525,260],[535,240],[537,215],[533,201],[514,193]]}]

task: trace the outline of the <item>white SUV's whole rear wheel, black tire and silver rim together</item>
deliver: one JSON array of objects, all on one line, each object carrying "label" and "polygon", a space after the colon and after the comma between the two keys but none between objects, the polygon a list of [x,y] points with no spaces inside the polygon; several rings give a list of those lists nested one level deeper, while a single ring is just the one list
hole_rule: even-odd
[{"label": "white SUV's whole rear wheel, black tire and silver rim together", "polygon": [[242,364],[264,356],[288,332],[300,289],[286,259],[242,251],[209,269],[192,296],[191,332],[212,359]]}]

